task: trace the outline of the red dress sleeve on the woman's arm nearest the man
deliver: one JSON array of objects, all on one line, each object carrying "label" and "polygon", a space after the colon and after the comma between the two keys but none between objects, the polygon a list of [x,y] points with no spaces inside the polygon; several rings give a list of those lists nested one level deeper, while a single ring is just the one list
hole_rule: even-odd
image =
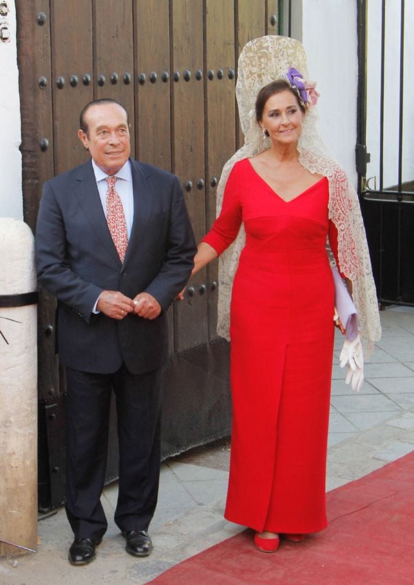
[{"label": "red dress sleeve on the woman's arm nearest the man", "polygon": [[223,206],[212,228],[201,240],[212,246],[218,255],[230,246],[242,222],[238,165],[232,168],[224,190]]}]

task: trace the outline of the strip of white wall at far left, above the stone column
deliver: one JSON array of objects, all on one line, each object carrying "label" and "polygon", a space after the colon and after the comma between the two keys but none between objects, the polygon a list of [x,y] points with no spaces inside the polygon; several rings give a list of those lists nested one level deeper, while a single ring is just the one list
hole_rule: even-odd
[{"label": "strip of white wall at far left, above the stone column", "polygon": [[8,6],[10,13],[0,19],[8,23],[11,32],[9,43],[0,42],[0,217],[21,220],[21,127],[14,0],[9,0]]}]

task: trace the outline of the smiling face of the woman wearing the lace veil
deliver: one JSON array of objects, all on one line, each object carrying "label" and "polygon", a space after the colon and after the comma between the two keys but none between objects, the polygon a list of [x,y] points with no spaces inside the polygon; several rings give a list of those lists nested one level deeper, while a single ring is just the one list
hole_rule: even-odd
[{"label": "smiling face of the woman wearing the lace veil", "polygon": [[286,89],[268,98],[263,108],[261,128],[267,130],[274,145],[296,144],[302,134],[303,111],[298,100]]}]

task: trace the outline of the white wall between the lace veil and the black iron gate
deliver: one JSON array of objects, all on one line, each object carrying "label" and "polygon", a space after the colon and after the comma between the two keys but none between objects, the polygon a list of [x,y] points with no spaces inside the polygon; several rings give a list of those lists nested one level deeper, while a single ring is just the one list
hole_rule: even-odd
[{"label": "white wall between the lace veil and the black iron gate", "polygon": [[309,78],[318,82],[319,131],[356,186],[358,87],[357,10],[354,0],[306,0],[302,43]]}]

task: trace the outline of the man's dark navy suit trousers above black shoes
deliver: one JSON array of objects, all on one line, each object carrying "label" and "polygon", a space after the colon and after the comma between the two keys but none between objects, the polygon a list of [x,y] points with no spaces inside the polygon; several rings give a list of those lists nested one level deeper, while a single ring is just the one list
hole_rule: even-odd
[{"label": "man's dark navy suit trousers above black shoes", "polygon": [[75,538],[100,540],[107,520],[100,503],[108,451],[111,392],[116,396],[119,491],[115,522],[121,531],[146,530],[160,479],[162,370],[91,374],[66,368],[66,513]]}]

